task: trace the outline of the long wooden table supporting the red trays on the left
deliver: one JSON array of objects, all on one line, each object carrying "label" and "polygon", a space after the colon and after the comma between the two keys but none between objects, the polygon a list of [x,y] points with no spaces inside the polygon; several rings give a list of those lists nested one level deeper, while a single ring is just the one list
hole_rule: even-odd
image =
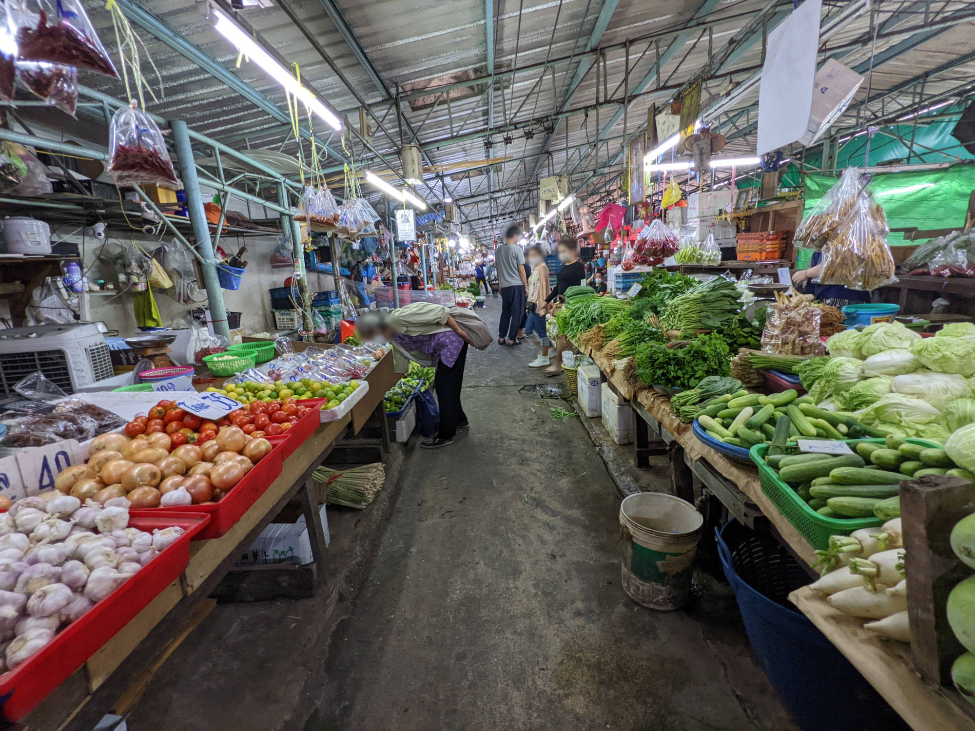
[{"label": "long wooden table supporting the red trays on the left", "polygon": [[160,657],[168,656],[198,623],[199,618],[194,621],[194,617],[201,612],[201,602],[234,568],[241,552],[292,500],[301,502],[309,526],[311,570],[322,575],[324,536],[312,473],[338,445],[362,448],[366,440],[345,441],[343,437],[358,434],[369,421],[382,427],[385,440],[382,400],[398,377],[393,372],[393,357],[387,354],[363,379],[370,388],[360,402],[336,421],[321,424],[301,443],[285,460],[281,475],[227,533],[191,543],[189,565],[179,578],[15,727],[30,731],[91,731],[120,698],[136,692],[134,686],[138,682],[148,682]]}]

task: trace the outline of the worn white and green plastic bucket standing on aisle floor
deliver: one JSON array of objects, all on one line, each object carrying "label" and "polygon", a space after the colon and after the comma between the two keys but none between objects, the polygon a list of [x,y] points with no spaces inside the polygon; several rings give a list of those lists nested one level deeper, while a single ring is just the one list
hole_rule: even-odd
[{"label": "worn white and green plastic bucket standing on aisle floor", "polygon": [[701,514],[679,497],[641,492],[620,504],[619,524],[623,590],[648,609],[680,609],[690,599]]}]

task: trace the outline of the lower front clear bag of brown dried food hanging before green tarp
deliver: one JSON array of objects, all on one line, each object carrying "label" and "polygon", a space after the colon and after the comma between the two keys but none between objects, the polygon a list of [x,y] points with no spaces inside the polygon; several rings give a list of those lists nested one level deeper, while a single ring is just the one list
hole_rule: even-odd
[{"label": "lower front clear bag of brown dried food hanging before green tarp", "polygon": [[887,246],[887,218],[874,197],[861,193],[834,237],[823,248],[819,281],[872,291],[897,282]]}]

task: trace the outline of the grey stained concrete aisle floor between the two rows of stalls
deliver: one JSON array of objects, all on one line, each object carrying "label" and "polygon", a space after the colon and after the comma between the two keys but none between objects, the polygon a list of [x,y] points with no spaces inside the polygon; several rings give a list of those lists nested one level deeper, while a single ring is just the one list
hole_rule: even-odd
[{"label": "grey stained concrete aisle floor between the two rows of stalls", "polygon": [[[481,312],[495,327],[499,300]],[[334,632],[318,597],[219,605],[129,727],[793,729],[726,587],[671,613],[625,596],[618,493],[578,419],[551,417],[565,404],[519,393],[545,380],[534,350],[468,356],[471,429],[408,452]]]}]

